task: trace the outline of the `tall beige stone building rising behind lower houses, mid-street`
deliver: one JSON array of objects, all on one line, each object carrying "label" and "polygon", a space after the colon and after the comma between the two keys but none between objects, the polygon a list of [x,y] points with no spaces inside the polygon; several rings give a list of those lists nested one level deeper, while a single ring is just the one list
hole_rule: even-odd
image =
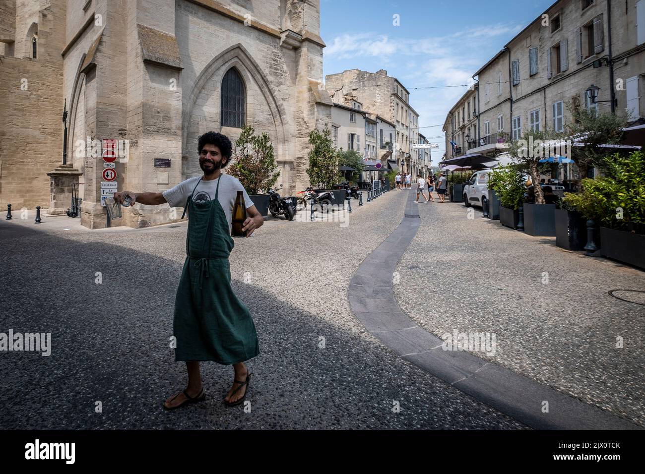
[{"label": "tall beige stone building rising behind lower houses, mid-street", "polygon": [[411,145],[419,139],[419,114],[410,106],[410,92],[395,77],[388,76],[386,70],[351,69],[326,75],[325,88],[332,101],[361,101],[364,110],[393,123],[396,164],[402,171],[417,172],[419,155]]}]

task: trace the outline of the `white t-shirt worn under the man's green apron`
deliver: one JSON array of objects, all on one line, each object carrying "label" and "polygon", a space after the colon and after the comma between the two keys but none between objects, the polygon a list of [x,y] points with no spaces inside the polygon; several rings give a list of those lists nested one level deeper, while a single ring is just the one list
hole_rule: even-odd
[{"label": "white t-shirt worn under the man's green apron", "polygon": [[[186,205],[186,199],[190,196],[190,193],[193,192],[195,184],[199,181],[201,176],[195,176],[192,178],[186,179],[177,184],[174,188],[165,190],[162,192],[164,199],[168,201],[171,208],[183,208]],[[215,198],[215,190],[217,189],[217,181],[222,181],[219,185],[219,191],[217,192],[217,201],[221,204],[224,213],[226,214],[226,221],[228,225],[231,225],[232,216],[233,216],[233,206],[235,205],[235,197],[237,197],[237,192],[243,192],[244,204],[246,208],[253,206],[253,201],[248,197],[244,186],[239,182],[239,179],[222,173],[219,178],[212,179],[210,181],[204,181],[203,179],[199,182],[199,185],[195,189],[193,194],[193,201],[210,201]]]}]

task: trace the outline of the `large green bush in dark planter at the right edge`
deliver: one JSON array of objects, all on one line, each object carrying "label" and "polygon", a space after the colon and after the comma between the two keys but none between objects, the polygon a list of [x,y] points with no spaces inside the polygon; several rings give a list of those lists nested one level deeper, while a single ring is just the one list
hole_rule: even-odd
[{"label": "large green bush in dark planter at the right edge", "polygon": [[602,256],[645,268],[645,157],[606,157],[603,170],[605,176],[583,179],[582,191],[564,201],[589,219],[588,229],[600,226],[602,245],[594,243]]}]

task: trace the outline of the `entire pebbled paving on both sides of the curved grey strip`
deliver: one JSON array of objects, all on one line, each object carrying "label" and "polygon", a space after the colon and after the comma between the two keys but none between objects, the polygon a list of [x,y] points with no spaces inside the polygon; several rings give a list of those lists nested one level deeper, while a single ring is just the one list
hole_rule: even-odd
[{"label": "entire pebbled paving on both sides of the curved grey strip", "polygon": [[[353,201],[344,222],[270,219],[235,239],[233,288],[260,340],[248,364],[250,412],[221,403],[232,370],[214,362],[202,364],[206,402],[161,408],[186,382],[170,348],[185,222],[88,231],[66,217],[0,215],[0,330],[52,333],[48,357],[1,355],[0,427],[528,428],[399,357],[353,313],[350,281],[399,228],[409,195]],[[475,355],[644,422],[642,306],[607,294],[642,288],[642,272],[561,251],[477,211],[468,219],[461,204],[418,212],[392,284],[406,315],[440,337],[495,333],[495,356]]]}]

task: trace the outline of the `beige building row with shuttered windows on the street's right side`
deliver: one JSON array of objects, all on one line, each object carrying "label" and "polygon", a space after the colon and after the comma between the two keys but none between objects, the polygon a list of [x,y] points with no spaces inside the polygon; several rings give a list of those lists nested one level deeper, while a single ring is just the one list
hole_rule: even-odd
[{"label": "beige building row with shuttered windows on the street's right side", "polygon": [[[473,77],[478,141],[461,153],[499,154],[504,141],[525,130],[562,132],[579,107],[624,112],[642,123],[645,0],[556,1]],[[449,133],[463,133],[463,124],[452,126],[457,105],[446,117],[447,142]]]}]

